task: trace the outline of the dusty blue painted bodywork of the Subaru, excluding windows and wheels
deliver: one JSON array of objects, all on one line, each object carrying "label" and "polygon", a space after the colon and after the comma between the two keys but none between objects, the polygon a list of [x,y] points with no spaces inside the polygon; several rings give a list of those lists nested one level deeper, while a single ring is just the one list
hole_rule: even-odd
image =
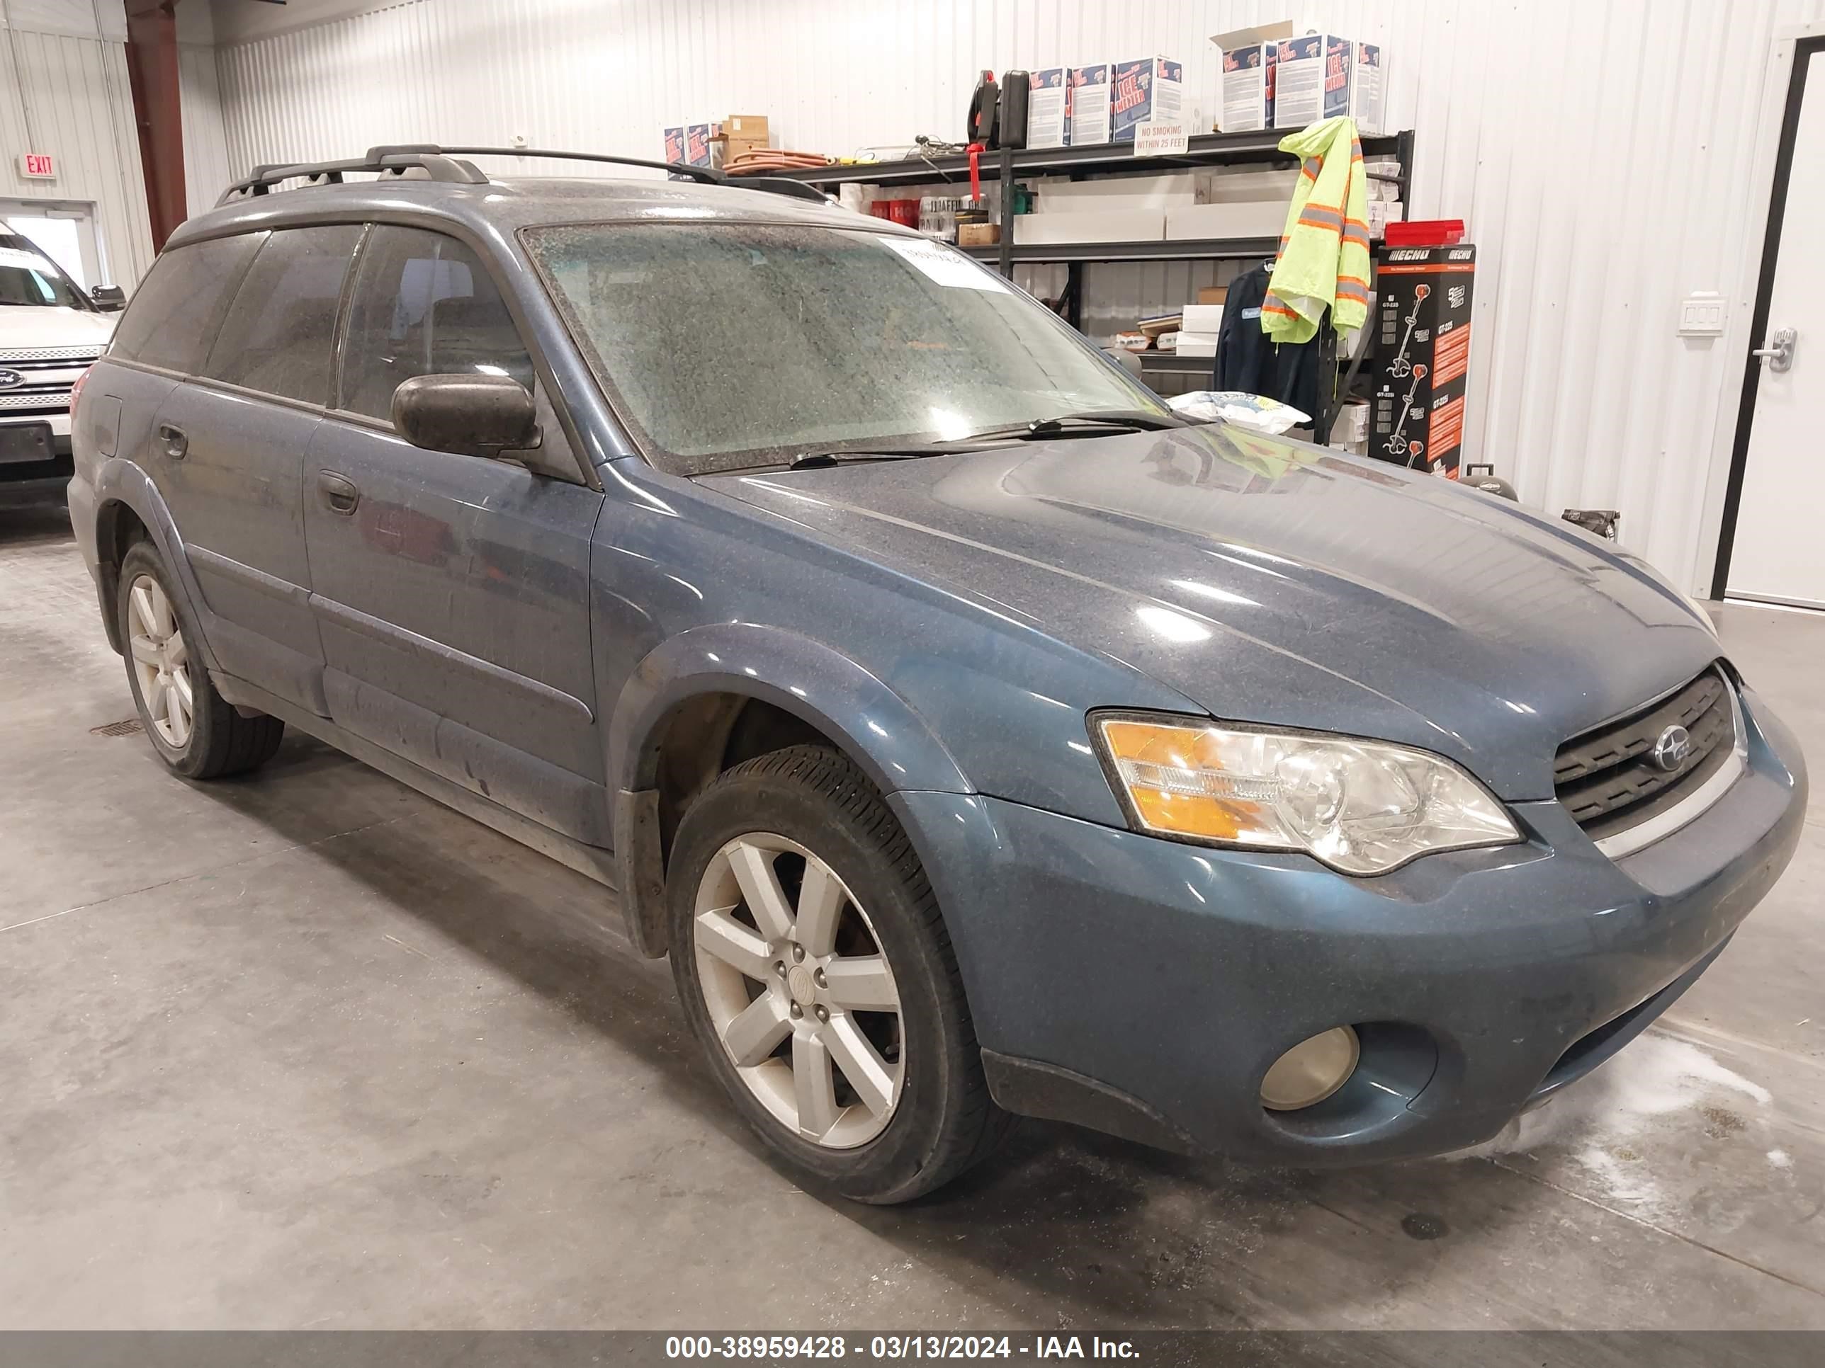
[{"label": "dusty blue painted bodywork of the Subaru, excluding windows and wheels", "polygon": [[[1750,768],[1684,832],[1611,861],[1570,821],[1557,746],[1721,648],[1646,565],[1513,503],[1223,427],[655,469],[515,232],[684,215],[843,221],[659,182],[339,186],[193,219],[175,246],[385,221],[484,252],[575,474],[104,359],[78,429],[115,412],[89,396],[117,401],[115,454],[78,430],[71,487],[102,600],[131,511],[226,697],[606,874],[650,952],[662,726],[708,693],[801,717],[920,850],[1004,1105],[1159,1144],[1334,1162],[1475,1142],[1663,1010],[1790,857],[1805,772],[1752,689]],[[173,403],[268,452],[261,492],[228,454],[173,469],[155,440]],[[350,516],[328,522],[321,471],[360,485]],[[182,492],[199,472],[208,492]],[[212,498],[219,518],[192,513]],[[263,534],[234,531],[243,507]],[[261,536],[319,534],[328,558],[252,564]],[[1352,879],[1139,835],[1091,742],[1102,708],[1431,750],[1507,803],[1522,843]],[[1363,1034],[1358,1083],[1263,1113],[1267,1065],[1336,1023]]]}]

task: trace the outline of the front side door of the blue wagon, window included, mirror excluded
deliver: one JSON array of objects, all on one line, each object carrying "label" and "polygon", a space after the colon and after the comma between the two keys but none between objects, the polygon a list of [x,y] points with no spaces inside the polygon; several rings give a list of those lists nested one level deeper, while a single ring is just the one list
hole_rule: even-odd
[{"label": "front side door of the blue wagon, window included, mirror excluded", "polygon": [[[511,376],[531,356],[464,243],[376,224],[349,297],[339,410],[316,434],[305,527],[330,717],[589,845],[610,845],[588,576],[602,494],[506,460],[420,451],[392,392]],[[568,463],[544,414],[542,465]]]}]

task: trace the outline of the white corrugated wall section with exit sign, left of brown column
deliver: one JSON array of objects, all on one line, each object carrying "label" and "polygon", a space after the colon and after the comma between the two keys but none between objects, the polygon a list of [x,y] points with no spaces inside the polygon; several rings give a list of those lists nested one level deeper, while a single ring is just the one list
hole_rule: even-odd
[{"label": "white corrugated wall section with exit sign, left of brown column", "polygon": [[[0,42],[0,197],[95,204],[102,281],[131,288],[151,264],[151,221],[120,0],[7,0]],[[51,153],[57,179],[24,179],[22,151]]]}]

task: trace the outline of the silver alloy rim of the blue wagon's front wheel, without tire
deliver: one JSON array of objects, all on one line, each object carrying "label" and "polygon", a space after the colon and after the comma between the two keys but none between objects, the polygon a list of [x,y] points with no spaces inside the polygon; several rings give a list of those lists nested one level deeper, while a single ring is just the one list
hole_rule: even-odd
[{"label": "silver alloy rim of the blue wagon's front wheel, without tire", "polygon": [[695,961],[735,1074],[788,1131],[854,1149],[905,1080],[900,990],[867,912],[816,854],[750,832],[697,885]]}]

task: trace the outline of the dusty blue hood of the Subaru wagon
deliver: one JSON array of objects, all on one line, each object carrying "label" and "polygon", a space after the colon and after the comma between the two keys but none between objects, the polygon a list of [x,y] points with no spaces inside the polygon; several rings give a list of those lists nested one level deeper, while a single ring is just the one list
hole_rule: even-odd
[{"label": "dusty blue hood of the Subaru wagon", "polygon": [[1507,799],[1551,797],[1562,741],[1719,653],[1642,562],[1570,523],[1234,427],[708,483],[1215,717],[1420,744]]}]

